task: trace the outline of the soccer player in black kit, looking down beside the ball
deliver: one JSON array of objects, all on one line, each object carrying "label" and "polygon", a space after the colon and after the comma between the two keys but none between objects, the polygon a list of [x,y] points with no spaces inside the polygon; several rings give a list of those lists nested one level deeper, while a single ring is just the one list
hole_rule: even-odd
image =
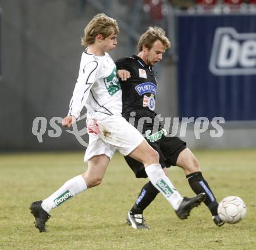
[{"label": "soccer player in black kit, looking down beside the ball", "polygon": [[[163,53],[170,47],[165,31],[160,27],[149,27],[138,41],[138,55],[121,58],[116,61],[118,69],[130,72],[130,78],[122,81],[123,117],[145,134],[145,139],[152,148],[159,153],[159,163],[167,173],[166,167],[182,167],[187,181],[195,194],[205,192],[207,198],[204,203],[212,214],[217,226],[224,223],[218,216],[218,202],[202,176],[198,160],[186,147],[186,142],[178,137],[166,137],[161,123],[157,122],[155,113],[155,95],[157,93],[157,80],[153,66],[162,59]],[[144,118],[142,118],[144,117]],[[155,126],[154,126],[155,122]],[[125,156],[125,160],[137,178],[146,178],[144,167],[140,162]],[[133,228],[149,228],[143,219],[143,211],[155,199],[158,190],[149,181],[141,189],[133,207],[127,214],[127,223]]]}]

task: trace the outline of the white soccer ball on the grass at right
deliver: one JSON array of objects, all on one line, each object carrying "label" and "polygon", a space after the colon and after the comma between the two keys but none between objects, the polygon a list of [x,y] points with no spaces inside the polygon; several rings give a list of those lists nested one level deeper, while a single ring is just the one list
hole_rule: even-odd
[{"label": "white soccer ball on the grass at right", "polygon": [[218,214],[225,223],[238,223],[246,216],[246,203],[240,197],[226,197],[219,203]]}]

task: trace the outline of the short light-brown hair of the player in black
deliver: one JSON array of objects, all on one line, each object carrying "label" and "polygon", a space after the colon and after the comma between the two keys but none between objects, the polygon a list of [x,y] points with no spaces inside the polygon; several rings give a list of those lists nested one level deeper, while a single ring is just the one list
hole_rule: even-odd
[{"label": "short light-brown hair of the player in black", "polygon": [[170,41],[165,35],[165,31],[160,27],[148,27],[147,31],[141,35],[140,40],[138,41],[138,52],[142,51],[143,45],[148,49],[153,47],[155,41],[161,41],[165,49],[170,48]]}]

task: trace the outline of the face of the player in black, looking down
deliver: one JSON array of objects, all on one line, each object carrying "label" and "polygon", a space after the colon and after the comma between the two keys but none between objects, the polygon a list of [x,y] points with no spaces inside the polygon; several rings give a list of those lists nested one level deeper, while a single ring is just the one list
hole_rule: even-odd
[{"label": "face of the player in black, looking down", "polygon": [[151,49],[145,51],[145,58],[147,60],[147,65],[155,65],[157,62],[162,60],[163,53],[165,53],[165,46],[161,41],[157,40],[154,42]]}]

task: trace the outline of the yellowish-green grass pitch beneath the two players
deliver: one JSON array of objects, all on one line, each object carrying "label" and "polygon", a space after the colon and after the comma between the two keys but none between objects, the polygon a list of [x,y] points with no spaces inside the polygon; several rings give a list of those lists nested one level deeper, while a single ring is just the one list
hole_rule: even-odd
[{"label": "yellowish-green grass pitch beneath the two players", "polygon": [[[194,151],[216,198],[241,197],[246,218],[216,227],[204,204],[179,220],[158,195],[145,210],[150,230],[134,230],[126,213],[145,179],[136,179],[116,153],[101,185],[51,211],[48,233],[38,233],[29,205],[83,173],[83,152],[0,155],[0,249],[256,249],[256,150]],[[169,177],[183,196],[193,196],[183,170]]]}]

